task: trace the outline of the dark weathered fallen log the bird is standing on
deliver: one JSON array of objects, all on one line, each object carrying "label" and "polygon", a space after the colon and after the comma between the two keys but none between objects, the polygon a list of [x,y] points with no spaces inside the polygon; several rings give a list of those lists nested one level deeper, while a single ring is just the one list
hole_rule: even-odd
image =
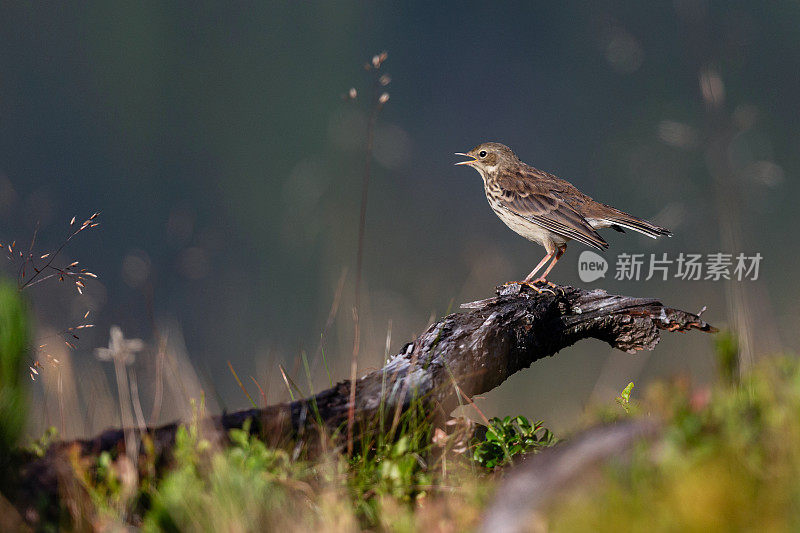
[{"label": "dark weathered fallen log the bird is standing on", "polygon": [[[652,350],[660,330],[715,331],[698,315],[665,307],[656,299],[569,286],[537,293],[513,283],[498,287],[493,298],[461,307],[468,311],[442,318],[406,344],[382,369],[356,381],[357,427],[368,427],[377,420],[380,409],[389,423],[396,421],[415,399],[429,412],[447,416],[458,405],[459,394],[490,391],[515,372],[581,339],[600,339],[633,353]],[[343,381],[313,397],[227,413],[208,423],[217,430],[228,430],[252,420],[253,431],[273,441],[302,440],[320,428],[327,435],[341,434],[339,430],[348,417],[349,394],[350,382]],[[148,429],[156,455],[169,452],[177,428],[178,424],[172,423]],[[59,443],[28,466],[26,477],[50,485],[56,481],[52,464],[66,450],[74,452],[77,447],[79,456],[90,456],[106,450],[123,451],[124,446],[122,429]]]}]

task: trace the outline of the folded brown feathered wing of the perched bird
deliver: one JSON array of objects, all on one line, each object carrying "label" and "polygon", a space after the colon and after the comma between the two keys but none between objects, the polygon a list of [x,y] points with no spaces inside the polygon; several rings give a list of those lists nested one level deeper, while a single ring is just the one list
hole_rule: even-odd
[{"label": "folded brown feathered wing of the perched bird", "polygon": [[503,191],[500,203],[512,213],[587,246],[608,248],[608,243],[557,190],[520,176],[500,183],[500,188]]}]

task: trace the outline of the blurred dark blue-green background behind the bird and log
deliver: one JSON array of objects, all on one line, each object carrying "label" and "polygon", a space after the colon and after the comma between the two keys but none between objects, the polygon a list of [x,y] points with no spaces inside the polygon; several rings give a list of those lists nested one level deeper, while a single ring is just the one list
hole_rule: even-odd
[{"label": "blurred dark blue-green background behind the bird and log", "polygon": [[[278,364],[307,387],[304,351],[314,386],[328,383],[322,338],[334,379],[346,377],[369,110],[362,66],[382,50],[391,99],[367,208],[362,370],[381,365],[389,329],[394,353],[543,255],[491,212],[474,171],[452,165],[453,152],[488,140],[674,231],[658,241],[606,232],[611,271],[589,285],[708,306],[707,320],[740,336],[745,363],[800,346],[797,2],[3,2],[0,11],[0,242],[27,242],[38,222],[44,252],[73,215],[102,211],[99,231],[66,256],[99,280],[83,297],[57,284],[30,291],[40,336],[86,310],[96,324],[76,351],[61,350],[59,382],[70,385],[60,401],[79,413],[68,434],[118,423],[99,400],[114,396],[111,370],[93,356],[112,324],[149,344],[135,363],[145,413],[155,328],[190,363],[174,375],[195,369],[217,409],[247,405],[228,361],[251,394],[249,376],[270,402],[283,400]],[[355,101],[343,98],[351,87]],[[582,284],[582,249],[571,245],[551,279]],[[764,259],[755,282],[615,281],[622,252]],[[709,379],[712,354],[698,334],[668,335],[636,356],[585,342],[479,405],[569,427],[631,380]],[[55,383],[33,385],[34,428],[54,423]],[[160,419],[179,414],[168,407]]]}]

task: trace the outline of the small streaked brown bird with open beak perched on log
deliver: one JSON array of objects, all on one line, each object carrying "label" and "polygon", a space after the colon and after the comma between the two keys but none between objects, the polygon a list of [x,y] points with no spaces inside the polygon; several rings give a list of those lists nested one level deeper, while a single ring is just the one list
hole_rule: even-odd
[{"label": "small streaked brown bird with open beak perched on log", "polygon": [[[525,278],[525,284],[547,282],[547,274],[564,255],[570,240],[598,250],[608,248],[608,243],[595,231],[600,228],[623,233],[623,228],[627,228],[654,239],[672,235],[665,228],[595,202],[572,184],[526,165],[503,144],[483,143],[466,154],[456,155],[472,158],[456,165],[469,165],[480,173],[486,199],[500,220],[547,250],[544,259]],[[544,273],[533,279],[551,258],[553,262]]]}]

